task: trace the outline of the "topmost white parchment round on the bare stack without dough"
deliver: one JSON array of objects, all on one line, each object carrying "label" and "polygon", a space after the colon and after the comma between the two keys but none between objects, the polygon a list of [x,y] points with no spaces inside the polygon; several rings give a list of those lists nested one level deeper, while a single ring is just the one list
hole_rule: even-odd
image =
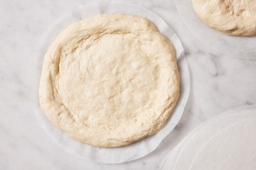
[{"label": "topmost white parchment round on the bare stack without dough", "polygon": [[190,170],[256,169],[256,118],[226,127],[195,154]]}]

